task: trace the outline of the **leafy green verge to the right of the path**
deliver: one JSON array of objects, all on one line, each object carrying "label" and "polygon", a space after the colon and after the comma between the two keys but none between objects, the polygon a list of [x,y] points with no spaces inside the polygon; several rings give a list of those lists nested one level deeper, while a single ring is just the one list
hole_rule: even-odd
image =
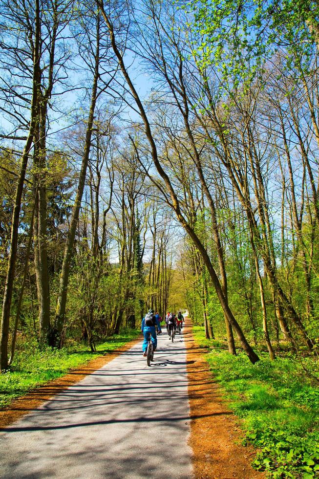
[{"label": "leafy green verge to the right of the path", "polygon": [[232,356],[213,346],[203,327],[194,327],[194,337],[209,348],[205,358],[242,419],[245,441],[259,450],[254,467],[272,478],[319,477],[319,389],[299,362],[287,353],[276,361],[260,353],[252,365],[243,353]]}]

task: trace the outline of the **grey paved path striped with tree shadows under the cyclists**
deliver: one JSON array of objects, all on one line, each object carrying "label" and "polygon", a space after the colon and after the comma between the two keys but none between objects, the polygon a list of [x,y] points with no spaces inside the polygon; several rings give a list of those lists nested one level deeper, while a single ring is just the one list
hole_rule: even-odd
[{"label": "grey paved path striped with tree shadows under the cyclists", "polygon": [[0,433],[1,478],[191,478],[185,345],[141,343]]}]

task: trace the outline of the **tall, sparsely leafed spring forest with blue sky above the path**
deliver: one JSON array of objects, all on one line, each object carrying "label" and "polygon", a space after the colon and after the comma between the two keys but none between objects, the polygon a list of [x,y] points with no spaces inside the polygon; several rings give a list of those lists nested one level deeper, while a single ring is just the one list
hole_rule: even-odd
[{"label": "tall, sparsely leafed spring forest with blue sky above the path", "polygon": [[317,1],[0,0],[0,370],[183,308],[318,387],[318,65]]}]

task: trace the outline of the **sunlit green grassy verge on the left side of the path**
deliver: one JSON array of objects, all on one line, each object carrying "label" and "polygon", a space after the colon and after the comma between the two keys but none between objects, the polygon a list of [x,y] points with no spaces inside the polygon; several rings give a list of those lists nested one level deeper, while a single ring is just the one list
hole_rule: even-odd
[{"label": "sunlit green grassy verge on the left side of the path", "polygon": [[40,350],[34,340],[28,344],[24,342],[23,350],[17,351],[11,369],[0,374],[0,407],[91,359],[124,346],[139,333],[140,331],[131,329],[122,331],[98,345],[95,353],[89,352],[84,343],[75,343],[62,349]]}]

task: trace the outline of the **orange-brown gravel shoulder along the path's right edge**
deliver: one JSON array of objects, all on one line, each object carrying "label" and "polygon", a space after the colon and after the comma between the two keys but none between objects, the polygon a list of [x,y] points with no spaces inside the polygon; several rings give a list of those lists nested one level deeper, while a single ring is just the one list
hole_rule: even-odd
[{"label": "orange-brown gravel shoulder along the path's right edge", "polygon": [[186,320],[184,340],[187,348],[191,435],[195,479],[263,479],[251,462],[252,447],[240,445],[243,437],[236,417],[227,408],[209,365],[203,358],[192,335],[190,320]]}]

